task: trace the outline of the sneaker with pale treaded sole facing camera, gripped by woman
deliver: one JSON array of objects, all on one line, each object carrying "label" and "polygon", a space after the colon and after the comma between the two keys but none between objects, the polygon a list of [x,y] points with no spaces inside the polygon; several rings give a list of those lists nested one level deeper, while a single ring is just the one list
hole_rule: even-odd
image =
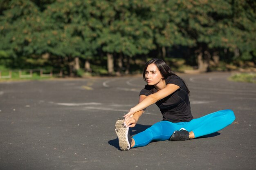
[{"label": "sneaker with pale treaded sole facing camera, gripped by woman", "polygon": [[130,136],[129,127],[124,126],[124,117],[120,117],[115,125],[115,131],[118,136],[119,147],[123,151],[130,149],[132,137]]}]

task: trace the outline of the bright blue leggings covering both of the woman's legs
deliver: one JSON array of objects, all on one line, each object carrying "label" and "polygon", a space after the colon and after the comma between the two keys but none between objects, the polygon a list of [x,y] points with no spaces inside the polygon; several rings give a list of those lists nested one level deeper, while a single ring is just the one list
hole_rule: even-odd
[{"label": "bright blue leggings covering both of the woman's legs", "polygon": [[150,141],[168,140],[175,130],[185,128],[187,131],[193,131],[196,137],[208,135],[225,128],[235,120],[232,110],[220,110],[203,117],[192,119],[189,122],[172,123],[170,121],[160,121],[153,124],[150,128],[138,133],[133,137],[135,147],[146,146]]}]

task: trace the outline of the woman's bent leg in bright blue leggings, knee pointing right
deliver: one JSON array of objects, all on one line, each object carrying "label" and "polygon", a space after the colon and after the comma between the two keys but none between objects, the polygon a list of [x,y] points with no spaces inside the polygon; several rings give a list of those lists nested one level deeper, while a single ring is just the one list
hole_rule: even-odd
[{"label": "woman's bent leg in bright blue leggings, knee pointing right", "polygon": [[193,119],[184,128],[189,132],[193,131],[195,138],[217,132],[236,119],[232,110],[220,110],[215,113]]}]

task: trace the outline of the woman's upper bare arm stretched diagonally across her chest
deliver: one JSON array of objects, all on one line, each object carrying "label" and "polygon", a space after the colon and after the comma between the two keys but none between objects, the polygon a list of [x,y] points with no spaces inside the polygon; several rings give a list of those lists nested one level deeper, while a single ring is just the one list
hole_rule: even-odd
[{"label": "woman's upper bare arm stretched diagonally across her chest", "polygon": [[157,101],[163,99],[164,97],[167,97],[168,95],[171,95],[173,92],[177,91],[179,88],[180,86],[177,86],[175,84],[167,84],[165,88],[163,88],[162,90],[159,90],[157,93],[153,93],[145,97],[145,99],[143,99],[139,104],[131,108],[130,111],[126,115],[124,115],[124,117],[132,116],[134,113],[147,108],[151,104],[156,103]]}]

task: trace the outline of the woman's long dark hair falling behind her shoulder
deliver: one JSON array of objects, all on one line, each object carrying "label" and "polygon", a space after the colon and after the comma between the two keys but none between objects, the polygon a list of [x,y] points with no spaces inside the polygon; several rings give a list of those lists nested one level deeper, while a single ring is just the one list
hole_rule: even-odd
[{"label": "woman's long dark hair falling behind her shoulder", "polygon": [[[148,68],[149,64],[155,64],[158,68],[158,70],[160,71],[160,73],[162,74],[162,76],[164,77],[164,79],[167,79],[167,77],[169,77],[170,75],[176,75],[175,73],[173,73],[171,71],[171,68],[161,59],[158,58],[154,58],[152,60],[149,60],[148,62],[146,62],[145,67],[144,67],[144,71],[143,71],[143,79],[146,81],[146,77],[145,77],[145,73],[146,73],[146,69]],[[176,75],[177,76],[177,75]],[[177,76],[179,77],[179,76]],[[180,78],[180,77],[179,77]],[[186,86],[185,81],[180,78],[181,81],[184,83],[185,87],[186,87],[186,91],[188,92],[188,94],[190,93],[189,88]]]}]

